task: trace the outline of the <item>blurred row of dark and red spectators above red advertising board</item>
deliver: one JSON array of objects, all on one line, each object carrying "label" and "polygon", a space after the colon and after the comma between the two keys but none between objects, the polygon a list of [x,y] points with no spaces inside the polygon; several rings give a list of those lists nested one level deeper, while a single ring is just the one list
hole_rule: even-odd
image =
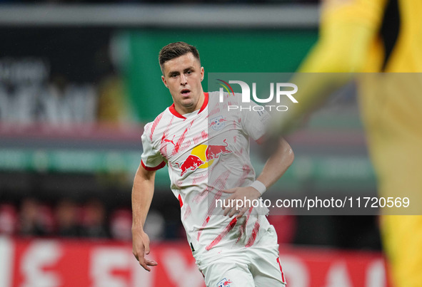
[{"label": "blurred row of dark and red spectators above red advertising board", "polygon": [[[83,202],[61,198],[52,204],[34,197],[25,197],[18,204],[0,202],[0,236],[131,241],[131,207],[107,208],[104,202],[98,197]],[[184,239],[179,216],[177,202],[155,204],[144,226],[149,239]],[[278,244],[381,249],[377,216],[293,216],[270,212],[268,221],[278,233]],[[319,232],[321,229],[325,231]]]}]

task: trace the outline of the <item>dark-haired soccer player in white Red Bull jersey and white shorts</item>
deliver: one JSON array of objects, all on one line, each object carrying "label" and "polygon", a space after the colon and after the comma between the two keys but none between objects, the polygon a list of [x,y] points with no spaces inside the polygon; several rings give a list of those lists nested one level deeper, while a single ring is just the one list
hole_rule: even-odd
[{"label": "dark-haired soccer player in white Red Bull jersey and white shorts", "polygon": [[[186,236],[206,286],[285,286],[275,229],[266,207],[251,207],[293,162],[290,145],[280,139],[255,180],[249,138],[261,140],[264,112],[226,112],[241,95],[204,93],[204,68],[194,46],[170,43],[161,49],[164,85],[174,104],[148,123],[144,152],[132,190],[133,253],[147,271],[149,237],[143,226],[154,194],[157,169],[168,166],[171,190],[179,199]],[[221,201],[226,202],[221,204]],[[244,204],[229,204],[241,200]],[[250,203],[249,202],[249,203]]]}]

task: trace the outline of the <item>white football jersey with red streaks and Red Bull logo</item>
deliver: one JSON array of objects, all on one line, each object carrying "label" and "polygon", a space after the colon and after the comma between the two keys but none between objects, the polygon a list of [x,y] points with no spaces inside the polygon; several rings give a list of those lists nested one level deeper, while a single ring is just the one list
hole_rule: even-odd
[{"label": "white football jersey with red streaks and Red Bull logo", "polygon": [[171,105],[145,126],[141,164],[149,170],[168,165],[171,190],[195,251],[252,246],[269,226],[265,207],[251,208],[236,220],[223,216],[218,201],[230,196],[223,189],[247,187],[255,180],[249,137],[263,136],[269,115],[249,110],[251,105],[256,104],[241,103],[240,94],[226,93],[219,103],[218,92],[205,93],[200,110],[180,115]]}]

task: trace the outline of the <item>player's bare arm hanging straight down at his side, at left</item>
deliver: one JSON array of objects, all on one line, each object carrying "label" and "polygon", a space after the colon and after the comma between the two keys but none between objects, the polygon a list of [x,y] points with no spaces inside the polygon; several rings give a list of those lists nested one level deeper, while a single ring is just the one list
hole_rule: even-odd
[{"label": "player's bare arm hanging straight down at his side, at left", "polygon": [[145,258],[145,255],[149,254],[149,237],[144,232],[146,214],[154,195],[155,174],[155,170],[147,170],[139,165],[132,188],[133,254],[146,271],[151,271],[149,266],[157,265],[156,261]]}]

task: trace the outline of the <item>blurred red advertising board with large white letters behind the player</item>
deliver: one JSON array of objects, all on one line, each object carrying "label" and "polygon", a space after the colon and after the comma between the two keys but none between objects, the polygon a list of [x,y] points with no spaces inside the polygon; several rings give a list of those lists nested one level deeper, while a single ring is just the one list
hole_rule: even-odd
[{"label": "blurred red advertising board with large white letters behind the player", "polygon": [[[0,287],[204,287],[184,242],[151,245],[159,265],[139,266],[131,244],[0,237]],[[383,256],[366,251],[281,247],[289,287],[386,287]]]}]

